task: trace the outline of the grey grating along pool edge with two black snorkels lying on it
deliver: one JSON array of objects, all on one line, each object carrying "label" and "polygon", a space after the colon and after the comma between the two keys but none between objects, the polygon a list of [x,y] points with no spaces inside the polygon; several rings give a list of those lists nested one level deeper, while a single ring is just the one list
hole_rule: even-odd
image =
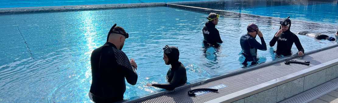
[{"label": "grey grating along pool edge with two black snorkels lying on it", "polygon": [[[333,59],[338,58],[338,50],[337,45],[332,48],[322,50],[320,52],[312,53],[300,58],[295,58],[293,60],[300,61],[310,61],[310,66],[300,65],[300,64],[291,64],[285,65],[284,62],[278,62],[272,65],[268,65],[265,67],[261,67],[258,69],[254,69],[251,71],[243,72],[237,75],[228,76],[225,78],[216,79],[209,82],[202,82],[199,85],[195,85],[192,87],[187,87],[180,90],[175,90],[166,94],[154,94],[157,96],[146,96],[136,100],[127,101],[130,103],[201,103],[207,102],[234,92],[238,92],[244,90],[246,88],[267,82],[269,80],[273,80],[275,78],[279,78],[299,70],[303,70]],[[192,89],[198,88],[210,88],[220,84],[227,85],[226,88],[219,89],[218,92],[210,92],[206,94],[202,94],[195,97],[189,97],[188,91]],[[168,92],[168,91],[166,91]]]}]

